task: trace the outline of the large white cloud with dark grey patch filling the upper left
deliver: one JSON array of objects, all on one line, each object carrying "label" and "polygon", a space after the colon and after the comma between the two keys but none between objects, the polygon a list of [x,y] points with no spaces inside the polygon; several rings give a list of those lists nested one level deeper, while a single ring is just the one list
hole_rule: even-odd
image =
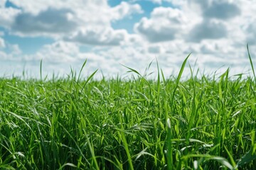
[{"label": "large white cloud with dark grey patch filling the upper left", "polygon": [[89,45],[120,45],[126,40],[127,31],[114,30],[111,23],[143,12],[139,4],[124,1],[114,7],[109,6],[107,0],[10,1],[22,9],[22,12],[3,9],[16,10],[16,15],[6,16],[8,24],[2,23],[12,34],[48,36]]}]

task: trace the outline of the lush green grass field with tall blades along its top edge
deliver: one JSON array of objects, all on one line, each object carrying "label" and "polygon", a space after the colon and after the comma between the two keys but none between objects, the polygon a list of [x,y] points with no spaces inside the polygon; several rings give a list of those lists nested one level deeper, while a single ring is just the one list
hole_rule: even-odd
[{"label": "lush green grass field with tall blades along its top edge", "polygon": [[255,77],[181,81],[185,64],[156,80],[1,78],[0,169],[254,169]]}]

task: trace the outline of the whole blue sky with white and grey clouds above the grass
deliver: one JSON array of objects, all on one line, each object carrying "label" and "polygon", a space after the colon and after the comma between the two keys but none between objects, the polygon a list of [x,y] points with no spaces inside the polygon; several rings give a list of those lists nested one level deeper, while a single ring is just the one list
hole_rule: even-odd
[{"label": "whole blue sky with white and grey clouds above the grass", "polygon": [[[144,72],[166,77],[186,56],[201,74],[248,73],[256,55],[254,0],[0,0],[0,76]],[[255,64],[256,67],[256,64]],[[102,74],[102,73],[98,74]],[[188,67],[186,69],[188,72]]]}]

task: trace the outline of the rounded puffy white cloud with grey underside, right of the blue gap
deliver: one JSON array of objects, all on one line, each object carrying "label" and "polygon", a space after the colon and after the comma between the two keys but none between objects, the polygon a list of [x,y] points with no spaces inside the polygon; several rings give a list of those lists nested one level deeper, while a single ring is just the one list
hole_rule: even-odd
[{"label": "rounded puffy white cloud with grey underside, right of the blue gap", "polygon": [[154,8],[151,18],[142,18],[134,30],[150,42],[161,42],[178,38],[188,23],[188,18],[178,8]]}]

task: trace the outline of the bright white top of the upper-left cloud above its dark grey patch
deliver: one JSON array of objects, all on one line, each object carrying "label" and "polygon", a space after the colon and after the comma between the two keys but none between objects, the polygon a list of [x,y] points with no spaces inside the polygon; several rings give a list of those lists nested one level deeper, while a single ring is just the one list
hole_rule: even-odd
[{"label": "bright white top of the upper-left cloud above its dark grey patch", "polygon": [[48,8],[69,9],[75,13],[75,17],[82,23],[110,23],[111,21],[120,20],[133,13],[142,13],[139,4],[129,4],[122,1],[114,7],[110,7],[106,0],[10,0],[11,3],[21,7],[25,13],[31,13],[33,16],[38,15]]}]

